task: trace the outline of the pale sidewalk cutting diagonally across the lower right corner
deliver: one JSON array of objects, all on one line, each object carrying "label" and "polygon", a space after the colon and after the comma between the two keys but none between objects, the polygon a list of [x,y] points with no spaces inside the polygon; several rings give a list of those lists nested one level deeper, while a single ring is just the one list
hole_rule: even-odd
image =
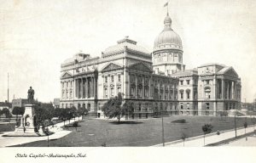
[{"label": "pale sidewalk cutting diagonally across the lower right corner", "polygon": [[[256,127],[255,127],[256,128]],[[248,126],[247,127],[247,133],[248,132],[253,132],[253,126]],[[241,136],[245,134],[244,128],[238,128],[236,130],[236,136]],[[234,138],[235,137],[235,129],[228,130],[228,131],[221,131],[219,135],[217,135],[216,132],[213,132],[211,134],[207,134],[206,139],[205,139],[205,145],[204,145],[204,136],[197,136],[193,138],[187,138],[185,140],[184,146],[185,147],[203,147],[206,146],[207,144],[211,143],[218,143],[220,141],[229,139],[229,138]],[[161,147],[163,146],[162,143],[154,145],[154,147]],[[166,147],[183,147],[183,140],[176,140],[173,142],[168,142],[165,143]]]}]

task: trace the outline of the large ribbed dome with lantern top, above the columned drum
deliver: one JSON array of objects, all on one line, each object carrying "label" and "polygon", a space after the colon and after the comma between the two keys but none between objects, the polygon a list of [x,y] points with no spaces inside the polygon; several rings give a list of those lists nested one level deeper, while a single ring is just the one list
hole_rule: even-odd
[{"label": "large ribbed dome with lantern top, above the columned drum", "polygon": [[154,40],[154,50],[173,48],[183,50],[181,38],[172,30],[172,20],[167,14],[164,21],[165,28]]}]

